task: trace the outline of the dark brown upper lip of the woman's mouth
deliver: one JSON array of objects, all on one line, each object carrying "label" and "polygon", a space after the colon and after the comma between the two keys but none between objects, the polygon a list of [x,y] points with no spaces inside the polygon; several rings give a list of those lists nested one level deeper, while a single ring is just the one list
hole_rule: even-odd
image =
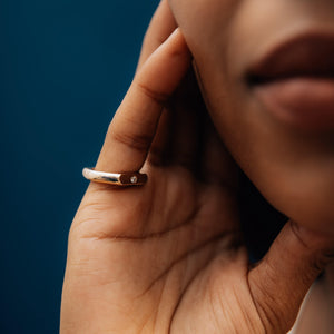
[{"label": "dark brown upper lip of the woman's mouth", "polygon": [[334,33],[303,33],[278,43],[247,71],[252,85],[293,77],[334,78]]}]

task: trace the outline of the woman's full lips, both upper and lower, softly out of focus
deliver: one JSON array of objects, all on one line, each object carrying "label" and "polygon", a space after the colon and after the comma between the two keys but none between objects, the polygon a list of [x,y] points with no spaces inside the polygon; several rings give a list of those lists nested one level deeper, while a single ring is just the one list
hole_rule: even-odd
[{"label": "woman's full lips, both upper and lower, softly out of focus", "polygon": [[334,35],[304,35],[275,47],[250,67],[247,81],[278,120],[334,129]]}]

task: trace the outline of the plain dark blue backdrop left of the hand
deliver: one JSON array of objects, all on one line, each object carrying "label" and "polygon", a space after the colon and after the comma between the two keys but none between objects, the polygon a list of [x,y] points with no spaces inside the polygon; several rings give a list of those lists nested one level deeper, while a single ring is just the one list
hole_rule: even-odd
[{"label": "plain dark blue backdrop left of the hand", "polygon": [[0,0],[1,333],[58,333],[67,235],[157,0]]}]

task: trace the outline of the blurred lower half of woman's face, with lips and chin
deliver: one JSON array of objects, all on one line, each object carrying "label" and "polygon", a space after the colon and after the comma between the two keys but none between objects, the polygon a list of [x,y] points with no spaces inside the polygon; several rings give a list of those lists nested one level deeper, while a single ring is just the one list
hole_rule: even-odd
[{"label": "blurred lower half of woman's face, with lips and chin", "polygon": [[334,234],[334,1],[170,6],[242,169],[286,216]]}]

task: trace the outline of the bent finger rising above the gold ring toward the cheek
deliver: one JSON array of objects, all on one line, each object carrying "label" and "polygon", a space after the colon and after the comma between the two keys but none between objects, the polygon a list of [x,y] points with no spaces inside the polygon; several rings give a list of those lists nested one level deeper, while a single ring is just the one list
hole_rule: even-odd
[{"label": "bent finger rising above the gold ring toward the cheek", "polygon": [[135,76],[109,126],[96,169],[125,173],[143,167],[164,105],[190,62],[189,49],[176,29]]}]

